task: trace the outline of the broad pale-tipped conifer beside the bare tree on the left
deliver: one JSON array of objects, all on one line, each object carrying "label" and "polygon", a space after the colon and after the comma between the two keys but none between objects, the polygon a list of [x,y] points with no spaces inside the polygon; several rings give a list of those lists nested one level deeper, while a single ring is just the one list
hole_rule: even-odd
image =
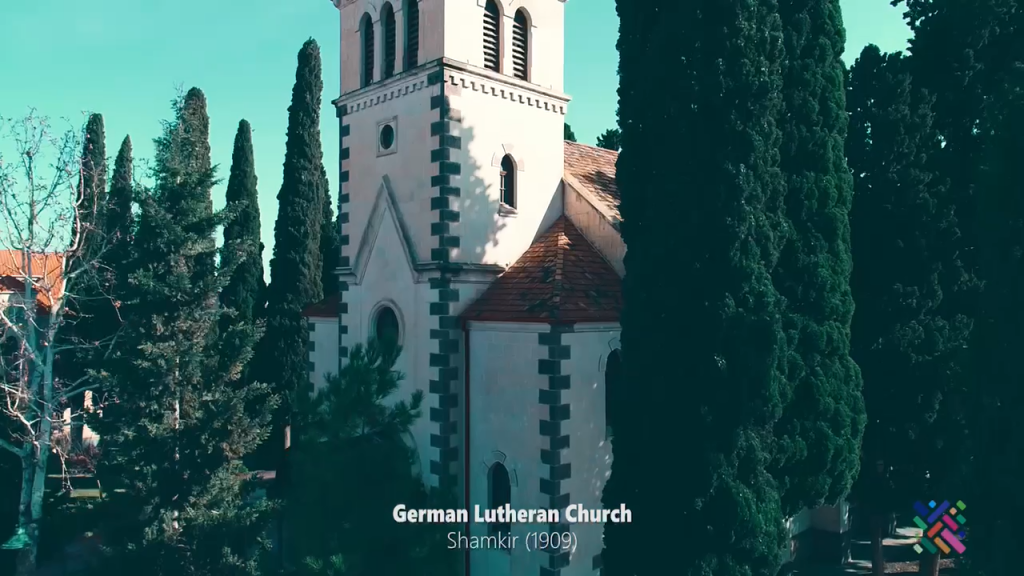
[{"label": "broad pale-tipped conifer beside the bare tree on the left", "polygon": [[254,328],[220,334],[238,347],[216,337],[217,295],[233,271],[211,274],[224,218],[211,210],[206,97],[193,88],[174,112],[156,140],[155,188],[139,197],[119,293],[126,327],[96,422],[110,552],[101,573],[254,575],[270,506],[254,498],[240,460],[265,438],[274,402],[266,386],[238,383]]}]

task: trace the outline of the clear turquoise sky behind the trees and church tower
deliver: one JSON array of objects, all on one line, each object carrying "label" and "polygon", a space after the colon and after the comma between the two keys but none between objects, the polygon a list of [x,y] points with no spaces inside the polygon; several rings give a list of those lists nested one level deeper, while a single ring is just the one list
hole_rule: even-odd
[{"label": "clear turquoise sky behind the trees and church tower", "polygon": [[[296,54],[315,38],[324,58],[324,158],[337,198],[338,170],[331,162],[338,158],[338,123],[330,101],[339,95],[340,28],[330,0],[0,3],[0,117],[17,119],[34,108],[56,126],[60,119],[81,126],[87,113],[97,112],[112,162],[126,134],[136,160],[146,159],[176,90],[198,86],[209,102],[213,162],[222,177],[213,193],[218,207],[239,120],[248,120],[267,260]],[[889,0],[841,4],[848,63],[867,44],[905,49],[910,33]],[[566,121],[581,142],[594,143],[615,125],[617,30],[614,0],[565,3],[565,91],[572,97]],[[0,153],[9,154],[9,142],[0,139]]]}]

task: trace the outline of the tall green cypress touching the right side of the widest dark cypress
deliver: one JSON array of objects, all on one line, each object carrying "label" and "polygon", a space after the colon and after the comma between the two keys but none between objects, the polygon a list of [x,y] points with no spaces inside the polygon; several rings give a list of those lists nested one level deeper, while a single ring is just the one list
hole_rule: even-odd
[{"label": "tall green cypress touching the right side of the widest dark cypress", "polygon": [[782,509],[834,504],[860,466],[864,406],[850,358],[849,211],[846,164],[846,31],[838,0],[780,0],[785,64],[781,168],[785,246],[772,278],[787,306],[786,405],[775,434],[773,476]]}]

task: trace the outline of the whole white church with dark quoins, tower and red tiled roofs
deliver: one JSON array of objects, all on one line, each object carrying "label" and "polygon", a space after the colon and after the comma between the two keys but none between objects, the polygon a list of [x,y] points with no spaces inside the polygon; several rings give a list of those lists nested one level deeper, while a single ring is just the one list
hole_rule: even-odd
[{"label": "whole white church with dark quoins, tower and red tiled roofs", "polygon": [[[335,5],[342,290],[305,313],[311,380],[390,334],[401,395],[426,393],[428,484],[469,508],[600,508],[626,248],[616,154],[563,140],[564,0]],[[520,536],[472,574],[600,570],[600,524],[467,528]],[[574,549],[521,545],[552,529]]]}]

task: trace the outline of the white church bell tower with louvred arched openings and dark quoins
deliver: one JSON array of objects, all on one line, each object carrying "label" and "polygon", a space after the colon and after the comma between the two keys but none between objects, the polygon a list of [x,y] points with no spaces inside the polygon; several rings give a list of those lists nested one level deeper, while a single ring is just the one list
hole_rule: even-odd
[{"label": "white church bell tower with louvred arched openings and dark quoins", "polygon": [[[400,369],[428,393],[414,430],[423,471],[459,487],[458,316],[561,213],[564,0],[335,6],[340,362],[373,335],[380,302],[397,302]],[[397,247],[375,264],[391,225]]]}]

